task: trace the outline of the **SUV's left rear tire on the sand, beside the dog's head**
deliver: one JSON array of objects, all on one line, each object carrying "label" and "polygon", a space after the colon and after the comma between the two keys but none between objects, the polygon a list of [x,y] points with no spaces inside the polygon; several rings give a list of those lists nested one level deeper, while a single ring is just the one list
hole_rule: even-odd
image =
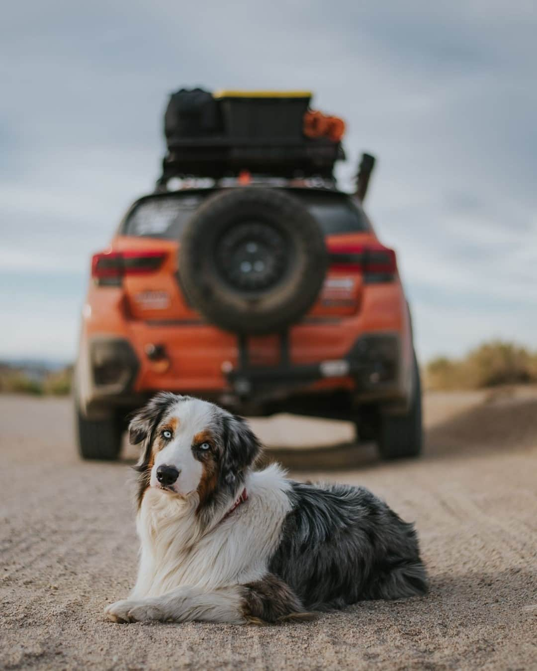
[{"label": "SUV's left rear tire on the sand, beside the dog's head", "polygon": [[75,404],[75,425],[79,453],[83,459],[114,461],[121,451],[121,421],[115,415],[87,419]]}]

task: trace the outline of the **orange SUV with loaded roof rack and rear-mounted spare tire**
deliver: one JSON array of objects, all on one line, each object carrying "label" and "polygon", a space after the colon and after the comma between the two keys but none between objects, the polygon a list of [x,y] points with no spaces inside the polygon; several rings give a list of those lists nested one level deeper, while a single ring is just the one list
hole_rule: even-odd
[{"label": "orange SUV with loaded roof rack and rear-mounted spare tire", "polygon": [[346,419],[384,458],[420,453],[409,308],[361,205],[374,159],[356,194],[339,191],[340,138],[334,123],[311,130],[309,101],[170,100],[156,191],[91,262],[75,370],[84,458],[117,458],[126,413],[162,389],[244,415]]}]

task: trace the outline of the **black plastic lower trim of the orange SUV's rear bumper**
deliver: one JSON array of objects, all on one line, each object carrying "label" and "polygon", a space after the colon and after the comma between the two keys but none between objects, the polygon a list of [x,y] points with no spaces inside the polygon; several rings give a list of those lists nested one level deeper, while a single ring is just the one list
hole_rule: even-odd
[{"label": "black plastic lower trim of the orange SUV's rear bumper", "polygon": [[[165,352],[165,350],[164,350]],[[159,360],[154,360],[158,365]],[[85,407],[95,413],[105,406],[136,406],[154,389],[140,389],[136,377],[142,362],[122,338],[101,336],[87,346]],[[401,339],[397,333],[371,333],[358,338],[343,358],[307,364],[289,360],[273,366],[222,364],[222,384],[217,389],[188,389],[162,384],[160,389],[192,393],[243,413],[256,413],[295,395],[344,391],[354,403],[406,403],[409,384]]]}]

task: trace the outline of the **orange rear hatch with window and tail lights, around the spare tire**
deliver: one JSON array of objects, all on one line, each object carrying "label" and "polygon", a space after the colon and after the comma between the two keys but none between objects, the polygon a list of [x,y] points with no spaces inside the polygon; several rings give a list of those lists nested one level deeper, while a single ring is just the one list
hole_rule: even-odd
[{"label": "orange rear hatch with window and tail lights, around the spare tire", "polygon": [[[305,321],[356,315],[364,285],[393,278],[395,255],[379,244],[352,197],[312,189],[289,191],[320,223],[330,254],[324,287]],[[102,284],[123,285],[132,319],[178,325],[203,321],[181,291],[177,257],[185,225],[211,193],[179,191],[140,199],[121,223],[113,250],[95,256],[93,276]]]}]

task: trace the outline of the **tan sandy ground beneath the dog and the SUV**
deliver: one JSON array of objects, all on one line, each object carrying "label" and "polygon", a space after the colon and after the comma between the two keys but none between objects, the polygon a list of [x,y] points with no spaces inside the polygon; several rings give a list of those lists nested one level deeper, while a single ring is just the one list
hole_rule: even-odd
[{"label": "tan sandy ground beneath the dog and the SUV", "polygon": [[535,391],[429,394],[411,462],[322,447],[345,424],[254,421],[293,476],[364,484],[415,520],[431,578],[424,598],[273,627],[104,621],[136,573],[134,453],[81,462],[66,400],[0,397],[0,422],[0,668],[537,668]]}]

